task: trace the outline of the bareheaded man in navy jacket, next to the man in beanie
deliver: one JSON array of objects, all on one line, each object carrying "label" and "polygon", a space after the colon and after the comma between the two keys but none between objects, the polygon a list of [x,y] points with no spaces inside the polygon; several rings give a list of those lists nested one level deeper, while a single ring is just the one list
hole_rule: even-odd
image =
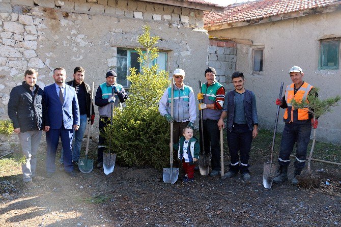
[{"label": "bareheaded man in navy jacket, next to the man in beanie", "polygon": [[[218,122],[224,126],[223,119],[228,117],[228,146],[231,156],[230,171],[225,178],[231,178],[240,173],[244,180],[250,180],[248,160],[251,150],[252,138],[258,135],[258,117],[254,93],[244,88],[244,75],[242,72],[232,74],[235,90],[225,95],[225,103]],[[240,153],[240,161],[238,152]]]}]

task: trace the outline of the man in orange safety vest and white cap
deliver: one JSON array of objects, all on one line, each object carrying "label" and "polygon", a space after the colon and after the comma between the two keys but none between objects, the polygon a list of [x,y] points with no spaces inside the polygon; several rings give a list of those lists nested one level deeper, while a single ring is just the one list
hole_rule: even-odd
[{"label": "man in orange safety vest and white cap", "polygon": [[289,71],[289,75],[293,83],[287,86],[283,98],[276,99],[276,105],[286,109],[283,116],[283,121],[286,124],[279,150],[278,174],[273,179],[273,182],[279,184],[288,180],[289,158],[296,143],[295,177],[292,180],[292,184],[296,185],[298,183],[296,176],[301,174],[305,165],[311,127],[317,128],[318,121],[314,121],[312,115],[307,110],[294,109],[291,104],[292,99],[298,102],[307,100],[308,94],[314,90],[314,87],[302,80],[304,73],[298,66],[293,66]]}]

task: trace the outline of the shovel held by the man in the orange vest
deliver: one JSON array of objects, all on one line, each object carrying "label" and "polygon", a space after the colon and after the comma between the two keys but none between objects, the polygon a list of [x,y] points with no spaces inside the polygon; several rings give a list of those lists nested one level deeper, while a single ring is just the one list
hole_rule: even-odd
[{"label": "shovel held by the man in the orange vest", "polygon": [[[280,84],[279,98],[282,97],[282,90],[283,90],[283,82]],[[276,163],[272,162],[272,157],[273,157],[273,148],[274,148],[274,145],[275,145],[277,123],[278,123],[278,115],[279,115],[279,106],[277,106],[276,120],[275,120],[275,129],[273,130],[270,161],[264,162],[263,186],[265,188],[267,188],[267,189],[271,188],[272,180],[273,180],[273,178],[275,176],[276,167],[277,167]]]}]

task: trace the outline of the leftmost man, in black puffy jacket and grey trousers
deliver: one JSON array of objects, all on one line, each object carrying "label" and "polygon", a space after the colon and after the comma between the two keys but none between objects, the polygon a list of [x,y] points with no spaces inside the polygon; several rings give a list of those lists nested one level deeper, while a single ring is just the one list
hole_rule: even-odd
[{"label": "leftmost man, in black puffy jacket and grey trousers", "polygon": [[44,119],[42,118],[43,90],[36,84],[38,72],[35,69],[25,71],[22,85],[14,87],[8,102],[8,116],[13,122],[14,132],[18,133],[22,153],[26,162],[22,164],[23,181],[32,189],[36,184],[37,151],[41,139]]}]

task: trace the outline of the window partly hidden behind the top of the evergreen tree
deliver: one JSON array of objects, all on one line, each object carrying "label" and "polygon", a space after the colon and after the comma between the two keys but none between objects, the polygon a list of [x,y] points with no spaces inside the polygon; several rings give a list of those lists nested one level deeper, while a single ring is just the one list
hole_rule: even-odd
[{"label": "window partly hidden behind the top of the evergreen tree", "polygon": [[[129,68],[135,67],[136,72],[141,72],[140,63],[137,62],[138,53],[132,49],[117,48],[117,68],[118,75],[117,82],[123,87],[129,87],[130,83],[127,80],[127,75],[130,74]],[[167,66],[167,52],[159,52],[159,56],[154,59],[153,65],[158,64],[159,70],[166,70]]]}]

